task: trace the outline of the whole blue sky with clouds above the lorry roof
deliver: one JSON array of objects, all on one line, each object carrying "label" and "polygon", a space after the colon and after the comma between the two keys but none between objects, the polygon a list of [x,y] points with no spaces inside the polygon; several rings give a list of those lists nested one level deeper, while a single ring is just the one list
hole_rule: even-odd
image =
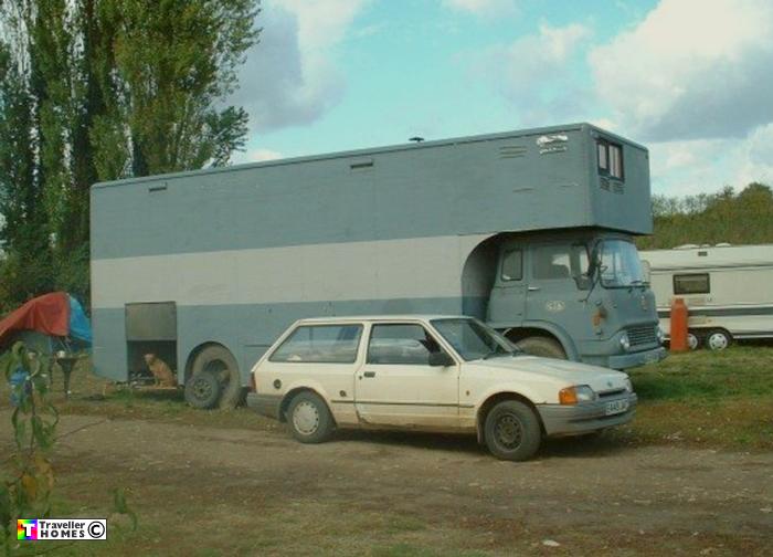
[{"label": "whole blue sky with clouds above the lorry roof", "polygon": [[770,0],[263,0],[236,161],[587,120],[653,189],[773,183]]}]

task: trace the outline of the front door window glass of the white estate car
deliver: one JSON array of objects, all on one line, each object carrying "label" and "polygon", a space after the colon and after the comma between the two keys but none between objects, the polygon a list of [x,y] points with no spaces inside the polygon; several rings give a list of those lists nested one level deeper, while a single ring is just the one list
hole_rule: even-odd
[{"label": "front door window glass of the white estate car", "polygon": [[421,325],[373,325],[368,343],[368,364],[427,366],[430,354],[441,350]]}]

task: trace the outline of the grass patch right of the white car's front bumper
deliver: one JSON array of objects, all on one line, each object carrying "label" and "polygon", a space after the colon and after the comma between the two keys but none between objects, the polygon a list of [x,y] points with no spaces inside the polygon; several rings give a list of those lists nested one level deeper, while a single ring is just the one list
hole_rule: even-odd
[{"label": "grass patch right of the white car's front bumper", "polygon": [[634,421],[611,432],[636,443],[773,449],[773,348],[734,346],[634,369]]}]

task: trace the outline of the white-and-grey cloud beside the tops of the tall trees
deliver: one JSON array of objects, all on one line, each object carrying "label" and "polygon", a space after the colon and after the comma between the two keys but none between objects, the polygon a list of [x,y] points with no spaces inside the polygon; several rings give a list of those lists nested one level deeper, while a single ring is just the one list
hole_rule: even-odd
[{"label": "white-and-grey cloud beside the tops of the tall trees", "polygon": [[231,102],[257,132],[314,122],[346,90],[335,48],[367,0],[268,0],[258,17],[261,41],[246,56]]}]

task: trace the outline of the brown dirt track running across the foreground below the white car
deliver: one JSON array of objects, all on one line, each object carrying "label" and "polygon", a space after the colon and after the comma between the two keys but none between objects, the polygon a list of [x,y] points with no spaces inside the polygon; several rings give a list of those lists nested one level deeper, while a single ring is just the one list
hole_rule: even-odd
[{"label": "brown dirt track running across the foreground below the white car", "polygon": [[[64,417],[60,434],[100,421]],[[6,444],[7,412],[0,423]],[[311,532],[306,543],[267,542],[266,551],[247,545],[237,553],[368,551],[380,534],[345,533],[351,543],[336,546],[314,529],[353,512],[414,521],[415,527],[398,527],[384,539],[426,547],[437,544],[434,537],[449,539],[444,532],[466,532],[457,546],[495,554],[763,555],[773,542],[773,454],[634,448],[602,438],[554,441],[537,460],[515,464],[493,459],[466,437],[343,432],[330,443],[301,445],[283,429],[114,420],[64,437],[55,465],[68,496],[88,500],[89,486],[133,485],[140,516],[155,521],[174,513],[174,505],[222,507],[246,514],[245,524],[254,522],[248,515],[256,507],[261,514],[282,514],[287,505],[314,509],[294,515]],[[216,519],[216,513],[208,516]],[[191,532],[208,527],[208,519]],[[280,525],[263,525],[274,526]],[[548,547],[546,539],[561,545]],[[216,536],[210,540],[230,547]],[[165,547],[161,538],[151,542]]]}]

